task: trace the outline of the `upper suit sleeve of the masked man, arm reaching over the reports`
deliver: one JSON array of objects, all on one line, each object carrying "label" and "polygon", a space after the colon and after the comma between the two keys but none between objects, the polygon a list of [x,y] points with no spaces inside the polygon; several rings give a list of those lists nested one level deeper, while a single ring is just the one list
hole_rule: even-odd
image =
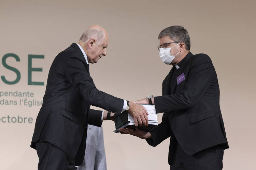
[{"label": "upper suit sleeve of the masked man, arm reaching over the reports", "polygon": [[210,87],[214,78],[214,67],[206,54],[195,56],[190,65],[184,90],[178,94],[158,96],[154,98],[156,112],[171,112],[194,106]]}]

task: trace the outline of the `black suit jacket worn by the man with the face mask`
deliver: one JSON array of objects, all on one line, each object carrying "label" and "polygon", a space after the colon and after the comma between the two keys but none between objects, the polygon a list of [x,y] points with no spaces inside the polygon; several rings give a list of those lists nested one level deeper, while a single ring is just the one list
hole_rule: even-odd
[{"label": "black suit jacket worn by the man with the face mask", "polygon": [[[172,68],[162,83],[162,95],[154,98],[156,112],[164,113],[162,122],[150,131],[147,139],[151,146],[171,136],[169,164],[177,142],[189,155],[223,144],[228,148],[221,109],[219,85],[210,57],[188,53]],[[177,77],[184,73],[185,80],[177,85]]]}]

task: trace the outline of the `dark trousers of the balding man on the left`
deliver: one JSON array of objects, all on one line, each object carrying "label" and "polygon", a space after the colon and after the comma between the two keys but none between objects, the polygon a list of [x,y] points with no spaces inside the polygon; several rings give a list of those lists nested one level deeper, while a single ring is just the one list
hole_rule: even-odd
[{"label": "dark trousers of the balding man on the left", "polygon": [[48,142],[35,144],[39,157],[38,170],[75,170],[75,159]]}]

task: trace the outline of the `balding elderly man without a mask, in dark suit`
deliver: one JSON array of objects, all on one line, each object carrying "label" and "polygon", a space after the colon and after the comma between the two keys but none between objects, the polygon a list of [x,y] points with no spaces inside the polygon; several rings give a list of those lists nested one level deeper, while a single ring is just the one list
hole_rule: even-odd
[{"label": "balding elderly man without a mask, in dark suit", "polygon": [[[137,125],[148,124],[143,106],[99,91],[90,77],[88,63],[97,63],[106,55],[108,40],[106,30],[93,25],[78,44],[73,43],[55,57],[31,142],[39,157],[38,169],[75,169],[84,159],[87,123],[99,125],[110,118],[110,112],[127,110]],[[109,114],[90,109],[90,105]],[[87,119],[88,113],[93,118]]]}]

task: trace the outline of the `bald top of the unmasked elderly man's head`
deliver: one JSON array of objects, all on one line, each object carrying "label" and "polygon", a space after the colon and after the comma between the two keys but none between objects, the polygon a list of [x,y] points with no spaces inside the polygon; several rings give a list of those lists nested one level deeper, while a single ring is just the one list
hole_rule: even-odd
[{"label": "bald top of the unmasked elderly man's head", "polygon": [[82,36],[80,37],[80,41],[85,42],[89,39],[101,41],[103,37],[108,37],[106,30],[99,25],[92,25],[83,32]]}]

